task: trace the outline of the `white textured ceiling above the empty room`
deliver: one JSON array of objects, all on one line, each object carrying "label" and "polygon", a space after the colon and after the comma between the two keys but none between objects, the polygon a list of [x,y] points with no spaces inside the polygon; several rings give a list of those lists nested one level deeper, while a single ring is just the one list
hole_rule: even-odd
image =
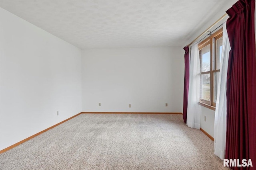
[{"label": "white textured ceiling above the empty room", "polygon": [[224,0],[1,0],[0,6],[68,43],[91,49],[180,46],[224,3]]}]

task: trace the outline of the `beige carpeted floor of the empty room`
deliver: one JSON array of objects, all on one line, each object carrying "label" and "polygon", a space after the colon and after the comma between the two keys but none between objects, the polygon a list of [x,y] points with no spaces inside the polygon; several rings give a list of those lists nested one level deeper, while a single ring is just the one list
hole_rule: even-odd
[{"label": "beige carpeted floor of the empty room", "polygon": [[0,154],[0,169],[228,168],[213,141],[182,115],[81,114]]}]

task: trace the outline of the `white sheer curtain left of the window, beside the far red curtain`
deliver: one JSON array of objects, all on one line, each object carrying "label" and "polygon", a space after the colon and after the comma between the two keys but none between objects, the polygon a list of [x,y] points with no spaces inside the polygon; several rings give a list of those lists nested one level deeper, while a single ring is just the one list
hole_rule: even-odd
[{"label": "white sheer curtain left of the window, beside the far red curtain", "polygon": [[188,127],[200,129],[200,58],[198,43],[192,45],[190,54],[189,88],[188,88]]}]

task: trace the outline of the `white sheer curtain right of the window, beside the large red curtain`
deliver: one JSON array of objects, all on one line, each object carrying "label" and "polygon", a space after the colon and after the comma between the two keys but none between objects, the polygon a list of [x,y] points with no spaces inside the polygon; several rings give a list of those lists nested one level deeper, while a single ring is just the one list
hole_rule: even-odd
[{"label": "white sheer curtain right of the window, beside the large red curtain", "polygon": [[226,119],[227,119],[227,70],[228,70],[228,55],[231,49],[226,22],[223,23],[223,46],[222,59],[220,66],[220,77],[218,84],[218,95],[216,101],[215,121],[214,121],[214,154],[222,160],[225,156],[226,146]]}]

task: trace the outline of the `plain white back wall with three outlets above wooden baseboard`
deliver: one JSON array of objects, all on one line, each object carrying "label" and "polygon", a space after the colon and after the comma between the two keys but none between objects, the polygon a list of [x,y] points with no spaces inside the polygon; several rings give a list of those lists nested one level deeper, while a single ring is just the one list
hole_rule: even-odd
[{"label": "plain white back wall with three outlets above wooden baseboard", "polygon": [[82,111],[182,112],[182,64],[177,47],[83,50]]}]

